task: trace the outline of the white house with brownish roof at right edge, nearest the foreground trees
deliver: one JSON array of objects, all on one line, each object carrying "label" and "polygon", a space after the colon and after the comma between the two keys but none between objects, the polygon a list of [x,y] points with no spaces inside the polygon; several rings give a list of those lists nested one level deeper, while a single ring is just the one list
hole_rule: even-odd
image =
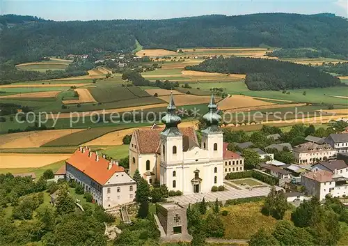
[{"label": "white house with brownish roof at right edge, nearest the foreground trees", "polygon": [[331,171],[310,171],[301,176],[301,185],[306,187],[308,195],[324,200],[327,194],[342,197],[348,194],[348,178],[337,176]]}]

